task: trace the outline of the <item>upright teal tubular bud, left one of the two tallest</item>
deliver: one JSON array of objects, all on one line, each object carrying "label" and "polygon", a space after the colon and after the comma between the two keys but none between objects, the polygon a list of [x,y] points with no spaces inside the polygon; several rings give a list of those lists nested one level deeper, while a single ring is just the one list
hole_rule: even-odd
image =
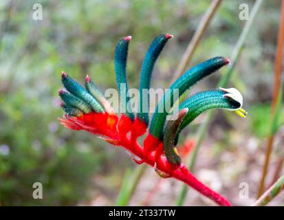
[{"label": "upright teal tubular bud, left one of the two tallest", "polygon": [[[133,111],[129,111],[130,102],[127,85],[127,54],[128,46],[131,36],[125,36],[118,41],[116,45],[116,51],[114,52],[114,68],[116,72],[116,83],[118,85],[118,91],[120,92],[120,106],[125,108],[126,115],[134,120]],[[122,88],[124,87],[124,88]],[[129,107],[127,107],[127,105]]]}]

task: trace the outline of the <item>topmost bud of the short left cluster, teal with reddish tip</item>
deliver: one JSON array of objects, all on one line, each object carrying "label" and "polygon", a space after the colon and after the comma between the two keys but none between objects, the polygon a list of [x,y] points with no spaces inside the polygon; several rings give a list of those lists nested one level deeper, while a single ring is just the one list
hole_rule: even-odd
[{"label": "topmost bud of the short left cluster, teal with reddish tip", "polygon": [[61,78],[64,87],[67,89],[67,91],[69,91],[69,93],[78,97],[83,102],[87,102],[87,104],[89,104],[91,109],[93,109],[94,111],[104,112],[104,109],[100,105],[100,103],[93,96],[91,96],[84,87],[79,85],[74,79],[72,79],[70,76],[65,74],[65,72],[62,72]]}]

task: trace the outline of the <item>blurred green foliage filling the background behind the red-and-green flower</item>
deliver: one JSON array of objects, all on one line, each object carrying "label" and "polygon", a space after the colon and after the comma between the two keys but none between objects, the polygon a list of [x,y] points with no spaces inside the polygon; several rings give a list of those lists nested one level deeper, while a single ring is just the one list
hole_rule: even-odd
[{"label": "blurred green foliage filling the background behind the red-and-green flower", "polygon": [[[34,3],[43,5],[42,21],[32,19]],[[131,35],[128,77],[131,86],[138,87],[146,48],[157,34],[168,32],[175,38],[166,45],[153,75],[154,88],[168,87],[209,3],[193,0],[1,1],[1,203],[74,205],[98,195],[107,198],[99,204],[113,203],[122,173],[133,164],[121,149],[116,150],[86,132],[69,131],[58,123],[56,118],[63,114],[57,96],[61,71],[82,83],[89,74],[102,89],[116,88],[113,50],[118,39]],[[212,56],[230,56],[245,23],[239,19],[240,3],[248,3],[251,7],[254,1],[221,3],[190,65]],[[273,0],[261,6],[230,83],[241,90],[249,117],[239,120],[230,113],[223,117],[224,113],[219,111],[208,136],[212,147],[206,148],[218,152],[218,158],[207,155],[208,160],[219,161],[222,159],[219,155],[226,151],[236,153],[238,144],[246,151],[245,146],[250,146],[252,140],[257,143],[258,151],[255,152],[259,153],[255,156],[261,156],[261,143],[265,141],[270,122],[279,5],[279,1]],[[193,92],[215,87],[218,79],[219,74],[210,76],[209,80],[194,87]],[[283,119],[281,115],[279,126]],[[199,122],[201,120],[195,124]],[[195,124],[189,129],[193,137]],[[248,142],[239,141],[243,139]],[[204,157],[206,154],[201,159]],[[228,155],[224,157],[228,159]],[[245,159],[248,158],[243,157]],[[248,161],[252,169],[261,163],[257,158]],[[223,166],[221,162],[213,164],[214,170]],[[241,171],[233,174],[232,179],[239,175],[243,181],[255,179],[257,182],[257,178],[245,178],[249,170],[243,168]],[[220,172],[226,173],[226,170]],[[37,181],[43,184],[42,200],[32,198],[32,184]],[[224,192],[226,188],[234,188],[236,192],[232,196],[238,195],[239,189],[232,180],[227,181],[224,188]],[[100,193],[93,195],[94,190]],[[227,197],[230,200],[230,195]]]}]

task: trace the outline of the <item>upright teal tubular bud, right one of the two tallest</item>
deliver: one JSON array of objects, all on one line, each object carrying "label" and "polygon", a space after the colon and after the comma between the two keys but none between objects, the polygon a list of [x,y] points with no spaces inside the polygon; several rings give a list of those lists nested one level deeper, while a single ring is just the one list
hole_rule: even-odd
[{"label": "upright teal tubular bud, right one of the two tallest", "polygon": [[[148,51],[144,56],[144,61],[141,69],[141,77],[140,77],[140,103],[138,109],[137,117],[144,122],[145,124],[149,124],[149,88],[151,85],[151,77],[153,73],[153,67],[155,65],[155,61],[157,61],[158,56],[162,52],[164,45],[168,39],[171,39],[173,35],[171,34],[160,34],[156,36],[151,45],[149,46]],[[146,93],[144,92],[146,91]],[[144,97],[144,96],[147,96]],[[146,101],[145,101],[146,99]],[[144,100],[144,101],[143,101]]]}]

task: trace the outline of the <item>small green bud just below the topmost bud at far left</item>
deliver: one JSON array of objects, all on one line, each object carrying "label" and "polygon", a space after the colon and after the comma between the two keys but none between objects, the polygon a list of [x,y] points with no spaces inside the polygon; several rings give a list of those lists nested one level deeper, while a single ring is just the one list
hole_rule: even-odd
[{"label": "small green bud just below the topmost bud at far left", "polygon": [[58,91],[58,94],[63,102],[68,106],[80,109],[80,111],[83,111],[83,113],[91,112],[91,107],[89,106],[89,104],[83,102],[83,100],[80,100],[80,98],[77,98],[76,96],[69,94],[67,91],[64,91],[62,89]]}]

